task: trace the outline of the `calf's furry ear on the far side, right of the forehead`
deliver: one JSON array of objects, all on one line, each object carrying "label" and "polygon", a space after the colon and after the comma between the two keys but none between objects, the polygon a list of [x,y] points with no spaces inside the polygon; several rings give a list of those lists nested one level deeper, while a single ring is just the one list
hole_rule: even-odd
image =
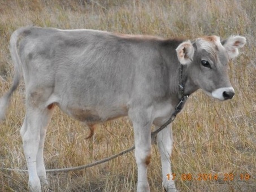
[{"label": "calf's furry ear on the far side, right of the forehead", "polygon": [[243,47],[246,38],[242,36],[231,36],[227,40],[222,41],[222,45],[228,51],[229,58],[233,59],[238,55],[238,48]]}]

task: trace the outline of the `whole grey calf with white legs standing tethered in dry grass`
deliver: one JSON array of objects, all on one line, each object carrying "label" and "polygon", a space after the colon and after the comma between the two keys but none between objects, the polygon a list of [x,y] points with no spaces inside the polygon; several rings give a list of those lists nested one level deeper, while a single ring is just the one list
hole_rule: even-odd
[{"label": "whole grey calf with white legs standing tethered in dry grass", "polygon": [[[0,116],[5,116],[23,72],[27,112],[20,133],[30,189],[41,191],[40,182],[47,183],[43,148],[46,127],[58,106],[91,130],[97,123],[128,115],[134,128],[137,191],[149,191],[151,125],[165,123],[182,96],[197,89],[221,101],[231,99],[235,91],[227,76],[228,60],[245,42],[241,36],[184,41],[86,29],[16,30],[10,41],[14,82],[0,100]],[[157,143],[163,187],[175,191],[174,181],[166,177],[171,175],[171,125],[158,133]]]}]

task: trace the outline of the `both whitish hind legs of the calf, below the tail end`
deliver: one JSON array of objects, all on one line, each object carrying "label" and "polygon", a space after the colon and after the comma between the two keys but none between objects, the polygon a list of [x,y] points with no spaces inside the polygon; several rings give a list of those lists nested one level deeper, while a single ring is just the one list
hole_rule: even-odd
[{"label": "both whitish hind legs of the calf, below the tail end", "polygon": [[34,108],[27,104],[27,114],[20,133],[28,166],[29,188],[31,191],[41,191],[40,180],[47,183],[43,150],[46,127],[52,114],[52,109]]}]

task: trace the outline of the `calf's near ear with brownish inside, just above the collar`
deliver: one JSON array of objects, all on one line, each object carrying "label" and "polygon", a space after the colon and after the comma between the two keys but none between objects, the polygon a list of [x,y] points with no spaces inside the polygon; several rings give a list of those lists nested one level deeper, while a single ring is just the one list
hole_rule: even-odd
[{"label": "calf's near ear with brownish inside, just above the collar", "polygon": [[181,64],[189,64],[193,60],[194,47],[190,41],[184,41],[176,49],[177,57]]}]

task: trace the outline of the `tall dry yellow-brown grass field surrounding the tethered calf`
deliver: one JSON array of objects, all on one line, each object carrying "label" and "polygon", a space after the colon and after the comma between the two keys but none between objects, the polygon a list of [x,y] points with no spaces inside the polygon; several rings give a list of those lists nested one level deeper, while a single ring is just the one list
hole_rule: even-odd
[{"label": "tall dry yellow-brown grass field surrounding the tethered calf", "polygon": [[[179,191],[256,191],[256,1],[0,1],[0,95],[10,88],[13,66],[8,42],[25,25],[61,29],[99,29],[162,37],[240,34],[248,40],[229,62],[236,90],[219,102],[202,91],[193,94],[173,123],[172,171]],[[0,167],[27,169],[20,137],[25,116],[24,83],[11,99],[0,125]],[[93,138],[78,121],[55,110],[47,130],[47,169],[74,167],[105,158],[133,145],[127,118],[99,125]],[[218,174],[218,180],[190,180],[189,173]],[[233,176],[233,177],[232,177]],[[248,178],[250,176],[250,178]],[[44,191],[134,191],[137,168],[133,152],[81,171],[47,173]],[[153,146],[148,179],[151,191],[162,191],[159,152]],[[28,174],[0,170],[0,191],[26,191]]]}]

